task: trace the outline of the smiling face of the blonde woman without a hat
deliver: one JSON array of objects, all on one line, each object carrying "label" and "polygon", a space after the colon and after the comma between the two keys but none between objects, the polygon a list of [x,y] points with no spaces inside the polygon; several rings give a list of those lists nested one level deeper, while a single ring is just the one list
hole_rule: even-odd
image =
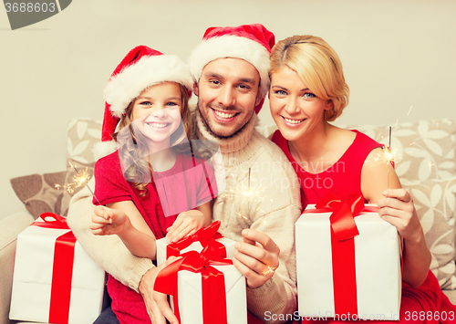
[{"label": "smiling face of the blonde woman without a hat", "polygon": [[325,110],[333,107],[331,100],[316,97],[295,70],[288,67],[271,76],[269,104],[279,131],[288,141],[302,139],[316,126],[323,125]]}]

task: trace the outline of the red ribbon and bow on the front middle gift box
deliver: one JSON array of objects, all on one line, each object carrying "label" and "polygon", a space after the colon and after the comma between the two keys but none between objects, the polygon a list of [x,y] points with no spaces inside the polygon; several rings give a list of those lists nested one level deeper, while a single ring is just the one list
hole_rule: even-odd
[{"label": "red ribbon and bow on the front middle gift box", "polygon": [[211,258],[212,252],[206,246],[201,253],[190,251],[182,258],[163,268],[153,289],[174,297],[174,315],[181,322],[177,277],[180,270],[202,274],[202,321],[203,324],[227,324],[226,291],[223,272],[212,266],[233,265],[233,261],[223,258]]}]

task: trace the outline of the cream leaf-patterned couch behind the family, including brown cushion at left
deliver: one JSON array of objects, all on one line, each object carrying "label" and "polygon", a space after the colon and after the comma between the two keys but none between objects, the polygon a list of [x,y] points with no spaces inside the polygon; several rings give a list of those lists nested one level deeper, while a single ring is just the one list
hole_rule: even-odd
[{"label": "cream leaf-patterned couch behind the family, including brown cushion at left", "polygon": [[[397,150],[396,172],[414,198],[432,254],[430,268],[456,304],[456,121],[420,120],[393,126],[391,147]],[[376,141],[389,141],[387,125],[345,127],[363,131]],[[65,187],[76,173],[69,163],[91,175],[94,158],[90,148],[99,140],[100,130],[99,120],[71,120],[67,128],[67,170],[11,179],[25,208],[0,220],[0,324],[13,323],[8,313],[17,235],[41,213],[67,214],[71,196],[80,189]],[[268,136],[275,125],[260,123],[257,130]],[[61,187],[56,188],[56,184]]]}]

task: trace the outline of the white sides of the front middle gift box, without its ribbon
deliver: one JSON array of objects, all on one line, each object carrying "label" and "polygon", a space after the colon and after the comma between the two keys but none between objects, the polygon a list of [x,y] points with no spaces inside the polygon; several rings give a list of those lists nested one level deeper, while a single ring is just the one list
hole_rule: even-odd
[{"label": "white sides of the front middle gift box, without its ribbon", "polygon": [[[231,265],[212,267],[223,272],[226,299],[221,300],[220,303],[226,301],[228,324],[246,324],[247,297],[245,277]],[[218,287],[213,287],[213,289],[217,288]],[[203,324],[201,273],[193,273],[187,270],[179,271],[178,298],[181,324]],[[172,297],[171,300],[173,300]],[[171,306],[173,308],[172,301]]]}]

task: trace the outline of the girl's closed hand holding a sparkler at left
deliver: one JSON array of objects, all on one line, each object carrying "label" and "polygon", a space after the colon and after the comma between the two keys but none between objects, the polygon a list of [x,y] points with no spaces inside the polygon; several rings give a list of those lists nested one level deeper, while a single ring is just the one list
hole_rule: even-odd
[{"label": "girl's closed hand holding a sparkler at left", "polygon": [[129,216],[118,209],[97,206],[93,210],[89,227],[93,235],[113,235],[121,233],[128,221]]}]

